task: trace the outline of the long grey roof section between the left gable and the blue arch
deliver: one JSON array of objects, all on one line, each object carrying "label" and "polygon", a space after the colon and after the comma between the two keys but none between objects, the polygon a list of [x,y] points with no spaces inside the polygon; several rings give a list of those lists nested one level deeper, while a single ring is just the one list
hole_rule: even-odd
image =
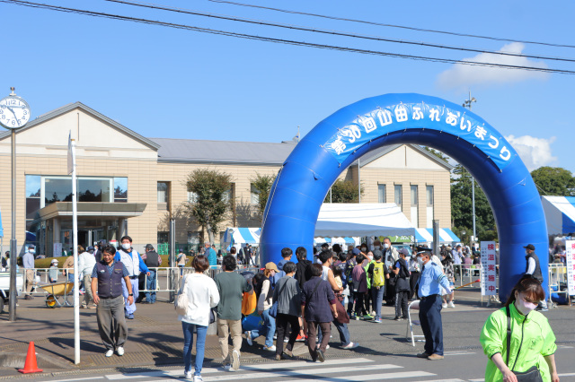
[{"label": "long grey roof section between the left gable and the blue arch", "polygon": [[280,165],[296,147],[282,143],[200,141],[194,139],[150,138],[160,145],[158,161],[188,163],[253,163]]}]

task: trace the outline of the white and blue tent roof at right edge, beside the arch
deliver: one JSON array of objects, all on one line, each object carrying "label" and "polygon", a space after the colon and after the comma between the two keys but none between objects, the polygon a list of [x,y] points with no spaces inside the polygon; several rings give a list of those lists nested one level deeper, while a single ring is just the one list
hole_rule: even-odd
[{"label": "white and blue tent roof at right edge, beside the arch", "polygon": [[575,196],[542,196],[549,235],[575,232]]}]

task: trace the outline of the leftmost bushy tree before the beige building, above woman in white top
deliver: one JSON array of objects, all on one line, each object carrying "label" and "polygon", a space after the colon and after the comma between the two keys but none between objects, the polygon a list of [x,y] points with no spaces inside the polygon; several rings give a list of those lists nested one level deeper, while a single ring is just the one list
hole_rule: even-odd
[{"label": "leftmost bushy tree before the beige building, above woman in white top", "polygon": [[188,174],[186,188],[193,193],[187,203],[191,217],[208,231],[211,243],[219,232],[219,224],[225,221],[231,207],[230,188],[232,176],[216,169],[195,169]]}]

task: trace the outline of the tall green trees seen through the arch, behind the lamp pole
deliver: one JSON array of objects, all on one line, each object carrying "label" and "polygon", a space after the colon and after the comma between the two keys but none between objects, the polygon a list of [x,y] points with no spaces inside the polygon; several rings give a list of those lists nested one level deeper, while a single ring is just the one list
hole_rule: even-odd
[{"label": "tall green trees seen through the arch, behind the lamp pole", "polygon": [[[464,240],[473,235],[472,177],[460,164],[453,169],[452,173],[452,227],[456,235]],[[491,205],[477,182],[475,182],[475,231],[478,241],[497,239],[497,227]]]}]

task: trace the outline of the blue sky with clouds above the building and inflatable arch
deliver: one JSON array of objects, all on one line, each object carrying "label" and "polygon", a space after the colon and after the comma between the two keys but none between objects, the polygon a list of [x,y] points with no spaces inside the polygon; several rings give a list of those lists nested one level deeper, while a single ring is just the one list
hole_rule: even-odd
[{"label": "blue sky with clouds above the building and inflatable arch", "polygon": [[[278,39],[456,60],[482,58],[473,52],[327,36],[102,0],[44,3]],[[156,3],[392,39],[575,57],[575,48],[462,38],[208,0]],[[575,3],[567,1],[553,6],[533,1],[252,0],[250,4],[423,29],[575,44],[571,20]],[[5,3],[0,3],[0,15],[7,27],[3,30],[0,95],[8,95],[9,87],[15,86],[17,94],[30,103],[32,117],[80,101],[147,137],[280,142],[296,135],[297,126],[305,135],[336,110],[367,97],[417,92],[462,103],[471,89],[477,99],[473,112],[508,137],[527,168],[550,165],[575,172],[573,75],[485,70],[296,47]],[[5,39],[8,34],[12,37]],[[511,65],[575,70],[568,62],[505,60]]]}]

